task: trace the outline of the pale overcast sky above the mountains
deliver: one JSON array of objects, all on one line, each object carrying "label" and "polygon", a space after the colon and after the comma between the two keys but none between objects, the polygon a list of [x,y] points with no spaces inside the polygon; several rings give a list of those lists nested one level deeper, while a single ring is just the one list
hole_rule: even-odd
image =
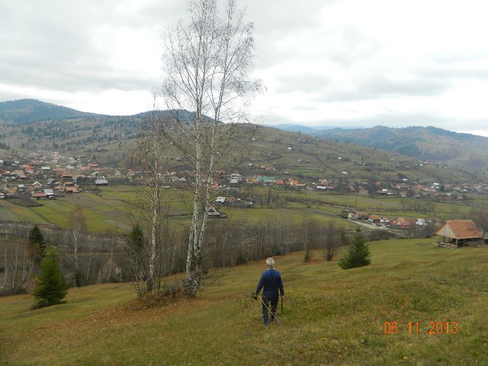
[{"label": "pale overcast sky above the mountains", "polygon": [[[488,1],[246,0],[252,120],[488,136]],[[183,0],[0,1],[0,101],[151,109]]]}]

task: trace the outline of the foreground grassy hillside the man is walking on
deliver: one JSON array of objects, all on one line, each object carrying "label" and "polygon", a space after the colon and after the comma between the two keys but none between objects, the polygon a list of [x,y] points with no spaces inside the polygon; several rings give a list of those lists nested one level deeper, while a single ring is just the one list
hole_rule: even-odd
[{"label": "foreground grassy hillside the man is walking on", "polygon": [[[310,264],[277,257],[287,302],[282,326],[268,328],[247,296],[263,261],[216,270],[195,300],[145,310],[130,284],[70,289],[68,303],[41,310],[29,295],[0,298],[1,363],[487,365],[488,248],[432,241],[370,243],[372,264],[351,270],[319,253]],[[385,321],[398,333],[384,334]],[[450,331],[456,321],[457,334],[428,334],[429,321]]]}]

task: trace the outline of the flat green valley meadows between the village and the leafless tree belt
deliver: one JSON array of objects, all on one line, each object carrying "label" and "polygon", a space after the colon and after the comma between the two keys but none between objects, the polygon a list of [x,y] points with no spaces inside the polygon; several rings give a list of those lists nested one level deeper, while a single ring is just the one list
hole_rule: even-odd
[{"label": "flat green valley meadows between the village and the leafless tree belt", "polygon": [[[81,192],[77,195],[66,195],[55,200],[36,201],[43,206],[26,207],[15,204],[15,201],[0,201],[0,220],[32,222],[36,224],[55,224],[68,227],[68,213],[76,206],[81,206],[86,215],[89,231],[128,231],[131,217],[137,215],[136,203],[141,201],[143,188],[130,185],[114,185],[100,188],[96,195],[93,192]],[[331,192],[310,190],[285,190],[264,186],[246,187],[249,199],[264,199],[270,195],[270,208],[257,204],[254,208],[237,208],[224,206],[219,208],[227,215],[226,220],[248,220],[260,222],[268,218],[287,218],[291,222],[302,222],[305,217],[313,218],[320,223],[330,220],[342,227],[353,227],[351,222],[338,218],[342,210],[350,208],[367,211],[390,218],[402,216],[414,218],[431,218],[441,220],[469,218],[471,212],[487,208],[488,203],[482,196],[473,195],[469,201],[460,203],[429,202],[429,211],[419,211],[417,206],[427,201],[400,199],[399,197],[363,197],[360,195],[339,195]],[[263,198],[264,197],[264,198]],[[144,200],[143,200],[144,202]],[[192,210],[192,199],[189,190],[171,188],[163,192],[163,205],[173,224],[188,226]]]}]

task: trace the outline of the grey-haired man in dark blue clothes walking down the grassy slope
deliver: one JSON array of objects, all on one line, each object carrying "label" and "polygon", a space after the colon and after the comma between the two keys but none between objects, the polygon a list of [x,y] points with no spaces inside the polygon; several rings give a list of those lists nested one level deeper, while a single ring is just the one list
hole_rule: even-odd
[{"label": "grey-haired man in dark blue clothes walking down the grassy slope", "polygon": [[[266,259],[266,266],[268,267],[261,275],[261,280],[257,285],[256,291],[253,293],[254,298],[257,298],[259,291],[264,287],[262,297],[263,307],[263,323],[268,325],[268,321],[275,320],[276,307],[278,305],[278,290],[282,300],[284,300],[284,287],[280,272],[275,270],[275,260],[273,258]],[[268,310],[271,314],[268,317]]]}]

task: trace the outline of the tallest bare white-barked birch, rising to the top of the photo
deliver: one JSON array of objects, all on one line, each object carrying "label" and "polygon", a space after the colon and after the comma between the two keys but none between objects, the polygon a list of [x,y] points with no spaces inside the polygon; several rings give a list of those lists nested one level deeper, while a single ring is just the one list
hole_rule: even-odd
[{"label": "tallest bare white-barked birch, rising to the top of the photo", "polygon": [[195,170],[186,261],[189,296],[201,284],[201,247],[215,171],[236,165],[255,132],[244,123],[247,98],[261,87],[247,75],[253,27],[234,0],[227,0],[223,9],[217,0],[190,0],[190,16],[170,29],[166,39],[162,93],[174,123],[168,123],[165,136]]}]

